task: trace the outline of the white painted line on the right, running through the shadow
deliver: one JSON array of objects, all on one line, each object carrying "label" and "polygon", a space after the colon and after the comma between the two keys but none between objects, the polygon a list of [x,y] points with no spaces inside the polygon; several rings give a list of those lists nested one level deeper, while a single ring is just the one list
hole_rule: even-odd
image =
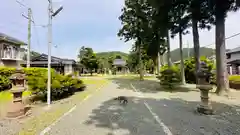
[{"label": "white painted line on the right, running through the shadow", "polygon": [[[132,89],[138,93],[138,95],[140,97],[144,97],[144,95],[138,91],[132,84],[131,84]],[[146,106],[146,108],[148,109],[148,111],[152,114],[152,116],[154,117],[154,119],[158,122],[159,126],[163,128],[163,131],[165,132],[165,134],[167,135],[173,135],[172,132],[170,131],[170,129],[162,122],[162,120],[158,117],[158,115],[153,112],[152,108],[149,106],[149,104],[146,101],[143,101],[144,105]]]}]

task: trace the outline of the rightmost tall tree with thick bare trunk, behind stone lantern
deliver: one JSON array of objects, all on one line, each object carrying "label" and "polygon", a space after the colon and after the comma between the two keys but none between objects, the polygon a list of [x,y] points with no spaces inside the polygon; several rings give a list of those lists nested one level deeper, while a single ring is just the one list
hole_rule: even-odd
[{"label": "rightmost tall tree with thick bare trunk, behind stone lantern", "polygon": [[225,18],[229,11],[236,11],[239,4],[236,0],[208,0],[215,17],[217,94],[228,91],[228,73],[226,67]]}]

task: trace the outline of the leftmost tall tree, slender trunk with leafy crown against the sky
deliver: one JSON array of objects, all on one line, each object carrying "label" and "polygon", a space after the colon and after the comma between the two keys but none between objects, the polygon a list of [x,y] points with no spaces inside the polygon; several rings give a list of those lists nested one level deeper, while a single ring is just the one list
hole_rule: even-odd
[{"label": "leftmost tall tree, slender trunk with leafy crown against the sky", "polygon": [[143,80],[143,66],[141,61],[141,49],[145,43],[148,34],[147,13],[148,5],[144,0],[125,0],[123,13],[119,19],[123,27],[119,30],[118,36],[123,37],[125,41],[135,40],[139,54],[140,80]]}]

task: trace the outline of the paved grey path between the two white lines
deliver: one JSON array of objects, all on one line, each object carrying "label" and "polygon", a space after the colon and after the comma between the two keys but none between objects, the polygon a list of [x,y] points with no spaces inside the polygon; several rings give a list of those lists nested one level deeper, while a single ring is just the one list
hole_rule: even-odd
[{"label": "paved grey path between the two white lines", "polygon": [[[130,96],[128,105],[112,100]],[[139,94],[111,83],[51,127],[50,135],[165,135]],[[171,134],[168,134],[171,135]]]}]

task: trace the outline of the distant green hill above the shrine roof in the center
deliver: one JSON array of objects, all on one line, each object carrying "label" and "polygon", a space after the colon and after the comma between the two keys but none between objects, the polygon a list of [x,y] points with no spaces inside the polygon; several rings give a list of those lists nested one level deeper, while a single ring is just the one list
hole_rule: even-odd
[{"label": "distant green hill above the shrine roof in the center", "polygon": [[97,57],[99,58],[115,58],[116,56],[121,56],[123,59],[127,60],[128,54],[120,51],[110,51],[110,52],[99,52],[96,53]]}]

